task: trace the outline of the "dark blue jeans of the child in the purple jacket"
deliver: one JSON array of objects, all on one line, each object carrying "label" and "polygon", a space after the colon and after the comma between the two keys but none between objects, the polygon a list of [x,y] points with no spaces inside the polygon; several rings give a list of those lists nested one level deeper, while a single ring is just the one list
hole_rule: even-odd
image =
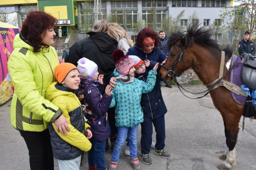
[{"label": "dark blue jeans of the child in the purple jacket", "polygon": [[93,166],[97,164],[97,170],[106,170],[106,167],[105,167],[106,140],[101,142],[90,140],[90,142],[92,143],[92,148],[88,151],[88,165]]}]

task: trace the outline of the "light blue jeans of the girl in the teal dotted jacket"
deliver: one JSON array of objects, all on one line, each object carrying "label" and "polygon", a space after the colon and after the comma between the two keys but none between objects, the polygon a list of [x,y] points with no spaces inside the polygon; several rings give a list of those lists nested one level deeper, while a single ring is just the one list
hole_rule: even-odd
[{"label": "light blue jeans of the girl in the teal dotted jacket", "polygon": [[117,128],[117,138],[114,145],[111,161],[118,161],[121,149],[125,143],[126,136],[129,139],[129,147],[130,147],[130,157],[137,157],[137,134],[138,134],[138,126],[135,125],[133,128],[128,127],[120,127]]}]

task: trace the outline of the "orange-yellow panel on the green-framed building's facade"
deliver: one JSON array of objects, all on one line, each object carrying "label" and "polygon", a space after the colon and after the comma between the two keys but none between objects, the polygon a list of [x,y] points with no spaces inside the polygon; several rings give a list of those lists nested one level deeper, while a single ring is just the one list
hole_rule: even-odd
[{"label": "orange-yellow panel on the green-framed building's facade", "polygon": [[67,6],[49,6],[44,7],[44,11],[48,14],[51,14],[57,20],[67,20],[68,19],[68,11]]}]

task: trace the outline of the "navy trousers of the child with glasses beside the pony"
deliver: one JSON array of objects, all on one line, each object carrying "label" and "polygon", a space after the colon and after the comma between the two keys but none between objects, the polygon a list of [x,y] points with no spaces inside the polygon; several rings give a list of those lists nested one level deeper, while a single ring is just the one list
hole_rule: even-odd
[{"label": "navy trousers of the child with glasses beside the pony", "polygon": [[156,131],[156,149],[163,149],[165,146],[165,120],[164,115],[151,121],[141,123],[141,153],[148,154],[152,143],[153,125]]}]

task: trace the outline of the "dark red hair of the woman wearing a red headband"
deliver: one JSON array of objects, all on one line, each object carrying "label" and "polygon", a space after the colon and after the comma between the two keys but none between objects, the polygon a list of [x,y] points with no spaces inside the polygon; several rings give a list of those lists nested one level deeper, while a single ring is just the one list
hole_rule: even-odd
[{"label": "dark red hair of the woman wearing a red headband", "polygon": [[143,47],[143,39],[151,37],[153,40],[155,40],[155,47],[157,47],[157,44],[159,42],[157,33],[152,28],[143,28],[136,37],[136,44],[139,47]]}]

